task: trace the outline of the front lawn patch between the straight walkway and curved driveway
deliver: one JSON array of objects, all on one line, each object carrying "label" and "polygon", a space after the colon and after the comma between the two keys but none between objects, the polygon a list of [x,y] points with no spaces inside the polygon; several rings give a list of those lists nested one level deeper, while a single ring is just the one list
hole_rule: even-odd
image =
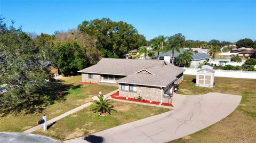
[{"label": "front lawn patch between the straight walkway and curved driveway", "polygon": [[114,105],[116,112],[112,111],[111,115],[99,116],[98,113],[90,111],[90,108],[84,108],[58,120],[46,132],[41,129],[33,133],[58,140],[67,140],[170,111],[170,109],[166,108],[123,102],[114,102]]}]

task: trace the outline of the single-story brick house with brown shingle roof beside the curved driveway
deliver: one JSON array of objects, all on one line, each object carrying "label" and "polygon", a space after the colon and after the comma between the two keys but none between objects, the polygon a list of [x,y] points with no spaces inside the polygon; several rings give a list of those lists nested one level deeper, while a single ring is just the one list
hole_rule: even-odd
[{"label": "single-story brick house with brown shingle roof beside the curved driveway", "polygon": [[[78,71],[82,82],[119,87],[119,96],[169,103],[174,84],[183,80],[183,69],[163,60],[102,58]],[[169,96],[164,96],[169,93]]]}]

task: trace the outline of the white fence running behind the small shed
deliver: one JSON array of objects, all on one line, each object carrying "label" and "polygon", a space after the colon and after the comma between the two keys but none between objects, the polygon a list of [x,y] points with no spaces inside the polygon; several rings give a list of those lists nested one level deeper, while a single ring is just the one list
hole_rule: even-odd
[{"label": "white fence running behind the small shed", "polygon": [[[196,75],[199,69],[196,68],[183,68],[186,71],[183,74]],[[244,79],[256,79],[256,71],[233,71],[233,70],[214,70],[215,77],[227,77],[227,78],[244,78]]]}]

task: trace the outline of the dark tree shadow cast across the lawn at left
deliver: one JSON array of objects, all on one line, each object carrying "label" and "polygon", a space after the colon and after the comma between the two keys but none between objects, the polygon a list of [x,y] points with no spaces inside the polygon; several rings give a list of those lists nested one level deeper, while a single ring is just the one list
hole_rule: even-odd
[{"label": "dark tree shadow cast across the lawn at left", "polygon": [[41,113],[47,106],[54,104],[54,102],[63,102],[69,94],[69,89],[77,89],[80,85],[63,84],[61,80],[54,80],[43,89],[38,90],[33,96],[27,96],[20,103],[12,105],[8,108],[1,108],[0,116],[9,114],[33,114]]}]

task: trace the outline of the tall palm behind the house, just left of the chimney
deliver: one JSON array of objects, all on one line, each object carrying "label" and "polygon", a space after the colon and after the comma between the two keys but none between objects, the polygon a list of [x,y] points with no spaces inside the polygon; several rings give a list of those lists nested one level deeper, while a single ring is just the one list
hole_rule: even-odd
[{"label": "tall palm behind the house, just left of the chimney", "polygon": [[167,39],[166,37],[160,35],[157,38],[155,38],[154,42],[151,44],[153,51],[157,52],[157,60],[159,60],[159,58],[160,58],[159,53],[165,51],[166,39]]}]

